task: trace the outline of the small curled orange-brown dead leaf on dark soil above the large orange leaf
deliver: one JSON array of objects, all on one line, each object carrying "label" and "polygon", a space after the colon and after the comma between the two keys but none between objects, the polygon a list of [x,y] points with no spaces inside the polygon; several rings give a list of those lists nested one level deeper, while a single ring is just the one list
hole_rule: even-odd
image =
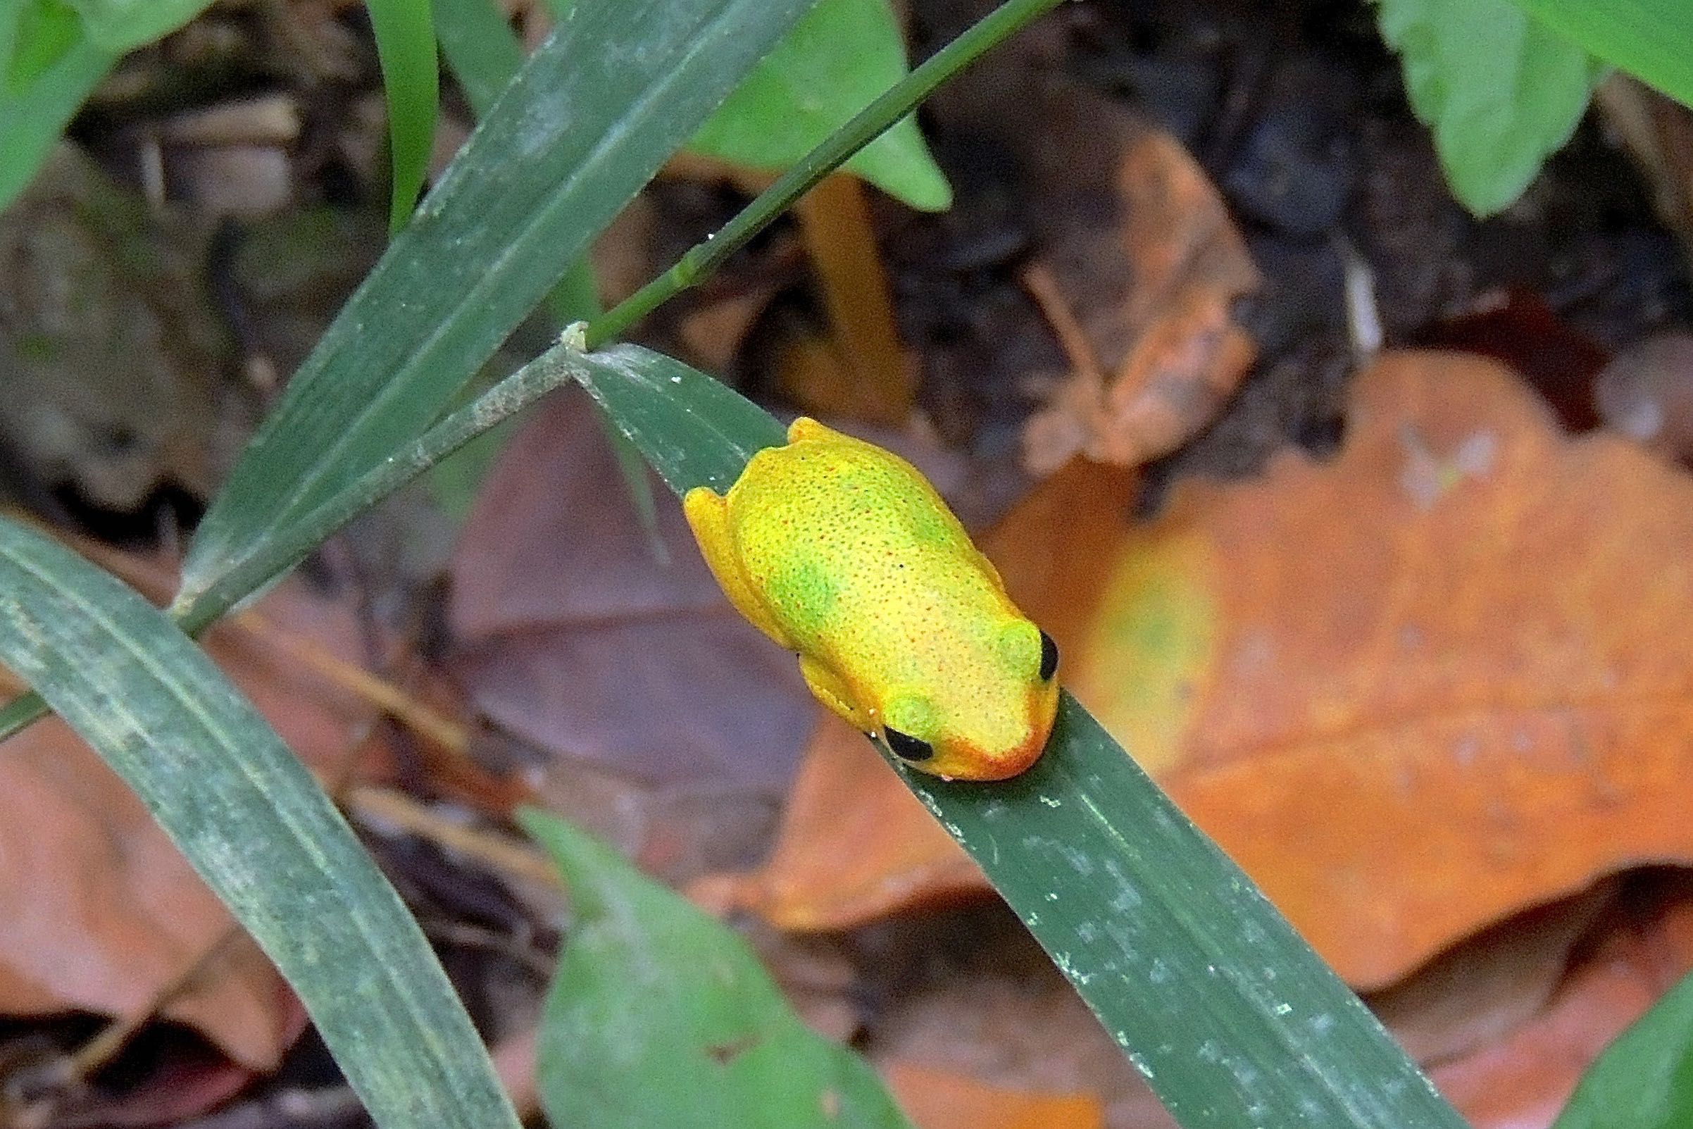
[{"label": "small curled orange-brown dead leaf on dark soil above the large orange leaf", "polygon": [[[1029,278],[1073,369],[1024,432],[1036,474],[1075,454],[1133,467],[1175,450],[1255,355],[1233,306],[1258,288],[1258,269],[1204,171],[1119,103],[1063,96],[1063,120],[1085,117],[1092,134],[1084,152],[1112,164],[1084,157],[1065,169],[1055,191],[1084,203],[1051,205],[1070,222],[1046,230]],[[1104,217],[1100,196],[1112,201]]]}]

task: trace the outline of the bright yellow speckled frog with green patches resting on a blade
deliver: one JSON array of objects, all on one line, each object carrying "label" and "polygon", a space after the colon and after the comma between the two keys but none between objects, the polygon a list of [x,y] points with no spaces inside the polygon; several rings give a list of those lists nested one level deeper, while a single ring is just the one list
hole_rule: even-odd
[{"label": "bright yellow speckled frog with green patches resting on a blade", "polygon": [[684,509],[730,601],[799,655],[818,701],[933,748],[913,767],[1001,780],[1041,755],[1058,708],[1041,633],[904,459],[801,418],[726,496],[698,487]]}]

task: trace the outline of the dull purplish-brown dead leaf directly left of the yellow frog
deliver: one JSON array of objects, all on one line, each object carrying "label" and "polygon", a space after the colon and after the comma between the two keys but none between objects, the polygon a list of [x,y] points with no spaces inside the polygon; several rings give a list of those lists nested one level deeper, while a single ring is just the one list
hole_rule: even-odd
[{"label": "dull purplish-brown dead leaf directly left of the yellow frog", "polygon": [[779,787],[813,701],[742,620],[679,506],[660,560],[587,398],[550,398],[483,484],[452,560],[455,672],[525,740],[653,782]]}]

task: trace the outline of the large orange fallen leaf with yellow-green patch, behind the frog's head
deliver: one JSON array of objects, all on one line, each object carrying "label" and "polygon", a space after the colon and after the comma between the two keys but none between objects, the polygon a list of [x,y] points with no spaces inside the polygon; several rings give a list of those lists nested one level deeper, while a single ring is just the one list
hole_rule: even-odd
[{"label": "large orange fallen leaf with yellow-green patch, behind the frog's head", "polygon": [[[1380,987],[1524,906],[1693,858],[1693,479],[1566,438],[1475,357],[1383,357],[1348,418],[1332,462],[1183,484],[1138,528],[1121,472],[1070,467],[987,550],[1070,689]],[[772,863],[714,895],[841,926],[965,892],[960,860],[831,733]]]}]

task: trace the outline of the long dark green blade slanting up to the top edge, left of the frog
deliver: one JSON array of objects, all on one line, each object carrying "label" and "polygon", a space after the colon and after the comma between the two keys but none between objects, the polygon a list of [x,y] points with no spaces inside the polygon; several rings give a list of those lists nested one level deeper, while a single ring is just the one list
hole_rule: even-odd
[{"label": "long dark green blade slanting up to the top edge, left of the frog", "polygon": [[416,437],[804,7],[577,5],[290,381],[205,515],[183,592]]}]

